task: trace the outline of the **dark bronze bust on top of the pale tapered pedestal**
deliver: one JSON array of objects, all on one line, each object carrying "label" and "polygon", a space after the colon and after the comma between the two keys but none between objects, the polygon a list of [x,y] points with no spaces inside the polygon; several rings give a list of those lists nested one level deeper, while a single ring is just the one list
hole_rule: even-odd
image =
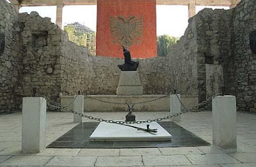
[{"label": "dark bronze bust on top of the pale tapered pedestal", "polygon": [[136,71],[139,66],[139,62],[132,61],[129,50],[127,50],[125,47],[122,48],[124,52],[124,64],[119,64],[118,68],[120,68],[122,71]]}]

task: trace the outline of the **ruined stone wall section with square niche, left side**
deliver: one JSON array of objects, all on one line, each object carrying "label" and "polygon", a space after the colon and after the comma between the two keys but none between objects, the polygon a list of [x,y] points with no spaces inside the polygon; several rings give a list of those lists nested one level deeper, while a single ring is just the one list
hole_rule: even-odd
[{"label": "ruined stone wall section with square niche, left side", "polygon": [[20,14],[20,36],[22,38],[22,70],[19,71],[19,96],[37,93],[58,99],[61,89],[60,43],[63,31],[42,18],[36,12]]}]

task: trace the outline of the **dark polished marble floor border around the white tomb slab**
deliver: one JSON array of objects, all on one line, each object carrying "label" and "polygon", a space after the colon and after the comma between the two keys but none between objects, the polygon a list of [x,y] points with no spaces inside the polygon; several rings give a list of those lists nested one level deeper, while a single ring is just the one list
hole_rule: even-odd
[{"label": "dark polished marble floor border around the white tomb slab", "polygon": [[[172,141],[159,142],[90,142],[89,137],[98,126],[98,122],[83,122],[78,124],[60,138],[52,142],[47,148],[158,148],[158,147],[197,147],[209,146],[195,134],[175,124],[174,122],[158,122],[168,133],[172,134]],[[135,125],[136,126],[136,125]],[[131,127],[132,128],[132,127]]]}]

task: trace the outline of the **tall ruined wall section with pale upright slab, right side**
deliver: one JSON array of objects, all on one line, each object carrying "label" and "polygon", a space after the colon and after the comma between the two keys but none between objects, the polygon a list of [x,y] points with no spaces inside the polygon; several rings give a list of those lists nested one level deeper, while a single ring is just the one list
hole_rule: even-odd
[{"label": "tall ruined wall section with pale upright slab, right side", "polygon": [[228,94],[231,90],[234,94],[234,68],[230,64],[232,12],[232,10],[205,9],[194,17],[197,31],[199,101],[220,93],[224,85]]}]

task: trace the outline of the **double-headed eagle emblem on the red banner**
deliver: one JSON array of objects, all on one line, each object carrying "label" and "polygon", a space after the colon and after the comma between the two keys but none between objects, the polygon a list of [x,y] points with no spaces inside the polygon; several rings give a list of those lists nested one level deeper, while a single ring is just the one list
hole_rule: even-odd
[{"label": "double-headed eagle emblem on the red banner", "polygon": [[130,16],[125,19],[122,15],[110,17],[110,30],[113,43],[131,47],[133,43],[141,43],[140,37],[143,35],[143,17],[136,18]]}]

